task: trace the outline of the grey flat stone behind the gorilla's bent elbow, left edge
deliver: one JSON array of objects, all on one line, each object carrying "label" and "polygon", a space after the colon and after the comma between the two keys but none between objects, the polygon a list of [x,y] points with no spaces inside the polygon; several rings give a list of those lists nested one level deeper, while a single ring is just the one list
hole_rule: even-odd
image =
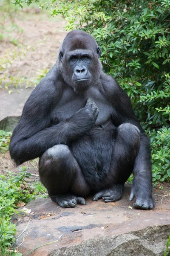
[{"label": "grey flat stone behind the gorilla's bent elbow, left edge", "polygon": [[17,125],[23,111],[23,106],[33,88],[19,88],[8,93],[0,90],[0,130],[12,131]]}]

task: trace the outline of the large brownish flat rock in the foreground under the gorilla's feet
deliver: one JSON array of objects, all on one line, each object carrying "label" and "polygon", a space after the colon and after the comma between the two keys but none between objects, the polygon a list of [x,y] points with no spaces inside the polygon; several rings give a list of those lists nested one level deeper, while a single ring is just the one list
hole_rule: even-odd
[{"label": "large brownish flat rock in the foreground under the gorilla's feet", "polygon": [[170,233],[170,198],[160,189],[153,193],[156,207],[145,211],[128,201],[127,184],[114,203],[89,197],[85,206],[61,208],[49,198],[31,201],[25,206],[31,209],[29,218],[16,220],[17,246],[22,244],[18,250],[26,255],[42,246],[29,256],[163,256]]}]

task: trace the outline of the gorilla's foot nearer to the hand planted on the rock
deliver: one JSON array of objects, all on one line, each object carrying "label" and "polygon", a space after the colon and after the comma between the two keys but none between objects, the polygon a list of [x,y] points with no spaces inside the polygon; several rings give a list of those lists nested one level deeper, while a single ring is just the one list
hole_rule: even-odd
[{"label": "gorilla's foot nearer to the hand planted on the rock", "polygon": [[111,189],[104,189],[94,195],[93,201],[104,199],[105,202],[115,202],[122,197],[124,185],[113,185]]}]

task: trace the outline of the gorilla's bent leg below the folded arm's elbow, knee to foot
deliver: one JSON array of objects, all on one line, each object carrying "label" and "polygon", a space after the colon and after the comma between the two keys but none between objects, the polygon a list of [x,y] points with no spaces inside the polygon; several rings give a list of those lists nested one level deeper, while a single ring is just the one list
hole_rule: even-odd
[{"label": "gorilla's bent leg below the folded arm's elbow, knee to foot", "polygon": [[55,145],[45,151],[40,157],[39,174],[51,200],[59,206],[85,205],[85,199],[81,196],[87,196],[90,188],[68,146]]}]

